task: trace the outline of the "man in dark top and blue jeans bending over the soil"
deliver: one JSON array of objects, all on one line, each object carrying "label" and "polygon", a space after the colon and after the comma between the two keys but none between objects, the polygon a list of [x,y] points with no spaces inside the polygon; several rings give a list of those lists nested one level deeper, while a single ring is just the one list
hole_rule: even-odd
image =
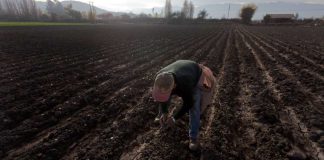
[{"label": "man in dark top and blue jeans bending over the soil", "polygon": [[[175,126],[176,121],[189,112],[189,148],[199,149],[200,115],[211,104],[215,77],[202,64],[190,60],[178,60],[161,69],[155,78],[152,95],[159,102],[159,115],[155,121],[161,126]],[[173,116],[168,117],[171,96],[182,98],[183,105]]]}]

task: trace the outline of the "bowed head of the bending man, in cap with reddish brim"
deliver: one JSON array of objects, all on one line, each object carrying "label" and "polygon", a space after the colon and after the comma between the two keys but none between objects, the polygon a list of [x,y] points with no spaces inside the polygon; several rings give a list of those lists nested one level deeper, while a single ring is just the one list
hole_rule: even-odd
[{"label": "bowed head of the bending man, in cap with reddish brim", "polygon": [[162,72],[155,78],[153,98],[158,102],[166,102],[170,98],[175,82],[172,73]]}]

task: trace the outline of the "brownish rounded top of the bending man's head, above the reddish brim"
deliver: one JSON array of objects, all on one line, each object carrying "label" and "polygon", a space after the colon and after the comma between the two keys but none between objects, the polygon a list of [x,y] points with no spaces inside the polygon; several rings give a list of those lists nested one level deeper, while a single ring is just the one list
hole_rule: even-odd
[{"label": "brownish rounded top of the bending man's head, above the reddish brim", "polygon": [[174,78],[172,73],[162,72],[155,78],[154,85],[159,89],[170,90],[173,87]]}]

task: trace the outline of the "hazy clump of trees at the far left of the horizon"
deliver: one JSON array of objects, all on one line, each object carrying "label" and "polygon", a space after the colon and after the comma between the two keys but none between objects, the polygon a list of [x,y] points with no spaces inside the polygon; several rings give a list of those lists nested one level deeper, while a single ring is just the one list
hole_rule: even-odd
[{"label": "hazy clump of trees at the far left of the horizon", "polygon": [[91,21],[96,18],[93,4],[88,12],[73,9],[72,4],[63,6],[58,0],[47,0],[46,11],[36,6],[35,0],[0,0],[0,20],[7,21]]}]

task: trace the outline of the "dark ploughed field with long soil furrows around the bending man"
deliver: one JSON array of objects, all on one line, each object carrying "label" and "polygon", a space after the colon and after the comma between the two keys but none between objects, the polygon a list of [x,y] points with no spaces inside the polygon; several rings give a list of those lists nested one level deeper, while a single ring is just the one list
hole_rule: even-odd
[{"label": "dark ploughed field with long soil furrows around the bending man", "polygon": [[[0,159],[323,160],[324,32],[294,30],[1,28]],[[155,73],[178,59],[217,77],[197,153],[188,116],[172,131],[153,123]]]}]

